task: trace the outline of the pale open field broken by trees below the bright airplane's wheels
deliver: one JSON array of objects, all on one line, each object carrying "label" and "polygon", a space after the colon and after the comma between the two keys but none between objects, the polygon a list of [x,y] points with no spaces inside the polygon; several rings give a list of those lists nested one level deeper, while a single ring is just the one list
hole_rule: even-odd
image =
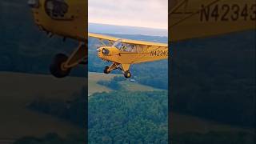
[{"label": "pale open field broken by trees below the bright airplane's wheels", "polygon": [[[94,73],[94,72],[90,72],[88,74],[89,78],[88,78],[88,86],[89,86],[89,96],[91,94],[94,94],[96,92],[100,93],[100,92],[110,92],[111,89],[106,87],[106,86],[102,86],[99,85],[97,82],[100,80],[110,80],[111,78],[114,78],[114,76],[123,76],[122,74],[103,74],[103,73]],[[129,91],[154,91],[154,90],[159,90],[159,89],[155,89],[151,86],[144,86],[141,84],[138,84],[137,82],[130,82],[129,79],[127,79],[124,82],[120,82],[122,84],[122,86],[124,86],[126,88],[126,90]]]}]

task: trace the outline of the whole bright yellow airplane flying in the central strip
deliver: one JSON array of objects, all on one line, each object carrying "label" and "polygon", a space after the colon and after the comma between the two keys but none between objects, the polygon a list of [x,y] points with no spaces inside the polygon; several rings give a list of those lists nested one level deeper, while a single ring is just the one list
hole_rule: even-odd
[{"label": "whole bright yellow airplane flying in the central strip", "polygon": [[[114,38],[102,34],[88,34],[98,38],[103,46],[97,49],[98,57],[112,62],[104,69],[105,74],[112,70],[122,70],[126,78],[130,78],[130,65],[142,62],[153,62],[168,58],[168,46],[165,43],[136,41],[124,38]],[[103,41],[108,41],[106,45]]]}]

